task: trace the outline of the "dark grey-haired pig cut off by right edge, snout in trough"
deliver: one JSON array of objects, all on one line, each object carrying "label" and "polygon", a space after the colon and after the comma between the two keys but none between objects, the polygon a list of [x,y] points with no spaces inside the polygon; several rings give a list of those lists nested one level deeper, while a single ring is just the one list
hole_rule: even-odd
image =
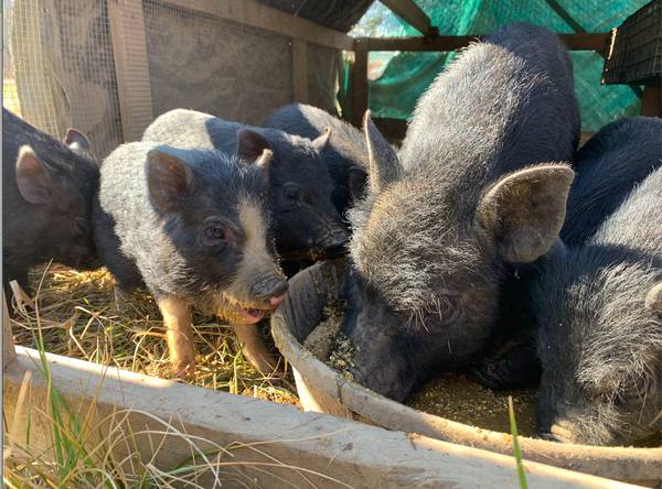
[{"label": "dark grey-haired pig cut off by right edge, snout in trough", "polygon": [[[656,145],[651,165],[662,157],[659,139]],[[622,152],[611,154],[619,159]],[[605,170],[609,163],[601,163]],[[661,229],[658,169],[585,246],[545,260],[531,296],[543,363],[538,430],[547,437],[630,445],[660,434]]]}]

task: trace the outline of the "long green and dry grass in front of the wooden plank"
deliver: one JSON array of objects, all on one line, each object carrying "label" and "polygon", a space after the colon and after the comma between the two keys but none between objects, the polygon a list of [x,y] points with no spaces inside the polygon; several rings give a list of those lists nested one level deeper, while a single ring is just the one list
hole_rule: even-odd
[{"label": "long green and dry grass in front of the wooden plank", "polygon": [[[25,376],[13,406],[14,414],[6,419],[3,487],[202,489],[229,485],[248,488],[258,487],[256,476],[268,481],[267,487],[317,488],[317,483],[350,487],[325,474],[286,464],[269,455],[269,446],[280,439],[223,446],[186,433],[177,416],[161,420],[143,411],[115,410],[99,417],[96,395],[74,411],[51,382],[43,354],[44,334],[52,335],[54,328],[42,328],[40,313],[35,319],[38,325],[31,333],[40,351],[38,368],[46,380],[46,402],[44,405],[30,403],[30,377]],[[30,420],[25,425],[18,421],[23,415]],[[140,422],[130,421],[136,415]],[[41,449],[32,443],[31,426],[36,425],[47,426],[45,445],[44,441],[36,442]],[[324,436],[328,435],[321,434],[319,438]],[[161,455],[172,456],[164,448],[172,439],[190,455],[174,466],[170,463],[168,468],[160,467]]]}]

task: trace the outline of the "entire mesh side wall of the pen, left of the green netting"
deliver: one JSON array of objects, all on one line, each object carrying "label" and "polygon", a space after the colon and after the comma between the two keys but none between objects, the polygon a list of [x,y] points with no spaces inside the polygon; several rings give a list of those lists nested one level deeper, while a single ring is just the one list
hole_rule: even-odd
[{"label": "entire mesh side wall of the pen, left of the green netting", "polygon": [[[3,0],[3,106],[56,139],[75,127],[104,157],[173,108],[259,124],[291,102],[291,39],[200,4]],[[137,43],[147,51],[142,85],[132,83]],[[310,44],[308,67],[309,101],[335,111],[339,52]],[[150,95],[146,110],[136,110],[137,88]]]}]

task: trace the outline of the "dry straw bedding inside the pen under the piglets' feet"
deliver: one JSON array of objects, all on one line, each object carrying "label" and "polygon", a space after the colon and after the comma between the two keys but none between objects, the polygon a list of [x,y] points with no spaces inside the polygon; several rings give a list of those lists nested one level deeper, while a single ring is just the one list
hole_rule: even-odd
[{"label": "dry straw bedding inside the pen under the piglets' feet", "polygon": [[[120,294],[105,270],[76,272],[58,265],[35,270],[46,351],[121,369],[172,378],[161,316],[147,291]],[[18,345],[35,348],[34,308],[12,319]],[[299,405],[291,374],[265,377],[244,359],[228,325],[194,315],[197,369],[190,383],[226,392]]]}]

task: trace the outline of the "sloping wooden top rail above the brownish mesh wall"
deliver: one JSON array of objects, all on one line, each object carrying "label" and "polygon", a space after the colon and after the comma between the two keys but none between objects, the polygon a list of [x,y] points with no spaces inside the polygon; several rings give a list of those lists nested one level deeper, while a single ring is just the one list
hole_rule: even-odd
[{"label": "sloping wooden top rail above the brownish mesh wall", "polygon": [[301,39],[313,44],[351,51],[354,39],[344,32],[324,28],[307,19],[266,7],[255,0],[164,0],[182,9],[194,10],[264,29],[286,37]]}]

